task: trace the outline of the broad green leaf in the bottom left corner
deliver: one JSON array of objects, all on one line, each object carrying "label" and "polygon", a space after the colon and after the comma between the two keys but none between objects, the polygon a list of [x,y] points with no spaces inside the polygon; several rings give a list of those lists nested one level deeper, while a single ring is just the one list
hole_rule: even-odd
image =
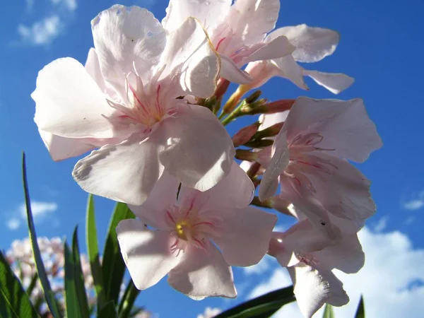
[{"label": "broad green leaf in the bottom left corner", "polygon": [[0,317],[40,318],[0,251]]}]

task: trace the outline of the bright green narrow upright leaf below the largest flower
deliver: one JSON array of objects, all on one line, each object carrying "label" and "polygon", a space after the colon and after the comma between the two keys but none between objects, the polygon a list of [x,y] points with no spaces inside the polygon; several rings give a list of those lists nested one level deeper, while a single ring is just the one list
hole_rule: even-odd
[{"label": "bright green narrow upright leaf below the largest flower", "polygon": [[102,308],[105,303],[105,293],[103,290],[103,276],[102,266],[100,265],[99,247],[97,228],[95,225],[95,208],[93,195],[88,195],[87,213],[86,213],[86,240],[88,260],[90,261],[91,274],[93,276],[93,283],[95,293],[98,298],[98,307]]}]

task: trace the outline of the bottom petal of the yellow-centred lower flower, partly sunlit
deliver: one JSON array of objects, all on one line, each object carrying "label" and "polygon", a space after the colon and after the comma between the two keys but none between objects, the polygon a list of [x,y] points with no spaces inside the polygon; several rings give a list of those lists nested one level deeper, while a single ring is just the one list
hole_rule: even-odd
[{"label": "bottom petal of the yellow-centred lower flower, partly sunlit", "polygon": [[176,290],[196,300],[237,296],[231,267],[212,244],[206,245],[206,249],[187,247],[167,281]]}]

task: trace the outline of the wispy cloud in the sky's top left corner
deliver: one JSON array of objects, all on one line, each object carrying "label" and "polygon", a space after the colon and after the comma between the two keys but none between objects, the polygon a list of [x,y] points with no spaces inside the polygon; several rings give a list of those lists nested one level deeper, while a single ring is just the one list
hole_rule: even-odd
[{"label": "wispy cloud in the sky's top left corner", "polygon": [[[38,3],[37,3],[38,5]],[[40,2],[45,5],[45,1]],[[33,13],[34,1],[26,0],[27,13]],[[76,0],[50,0],[44,11],[48,12],[43,18],[33,20],[32,23],[19,23],[18,35],[20,45],[49,45],[64,30],[66,25],[72,20],[73,12],[78,4]]]}]

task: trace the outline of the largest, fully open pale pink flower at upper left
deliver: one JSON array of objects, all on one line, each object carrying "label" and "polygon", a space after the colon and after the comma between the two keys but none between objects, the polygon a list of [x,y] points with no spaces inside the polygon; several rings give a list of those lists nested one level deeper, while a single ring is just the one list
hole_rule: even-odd
[{"label": "largest, fully open pale pink flower at upper left", "polygon": [[37,78],[35,122],[53,157],[101,146],[73,177],[129,204],[142,204],[164,170],[188,187],[213,187],[230,170],[232,141],[206,107],[181,99],[216,89],[219,57],[200,23],[187,18],[166,35],[146,9],[116,5],[92,29],[86,68],[58,59]]}]

